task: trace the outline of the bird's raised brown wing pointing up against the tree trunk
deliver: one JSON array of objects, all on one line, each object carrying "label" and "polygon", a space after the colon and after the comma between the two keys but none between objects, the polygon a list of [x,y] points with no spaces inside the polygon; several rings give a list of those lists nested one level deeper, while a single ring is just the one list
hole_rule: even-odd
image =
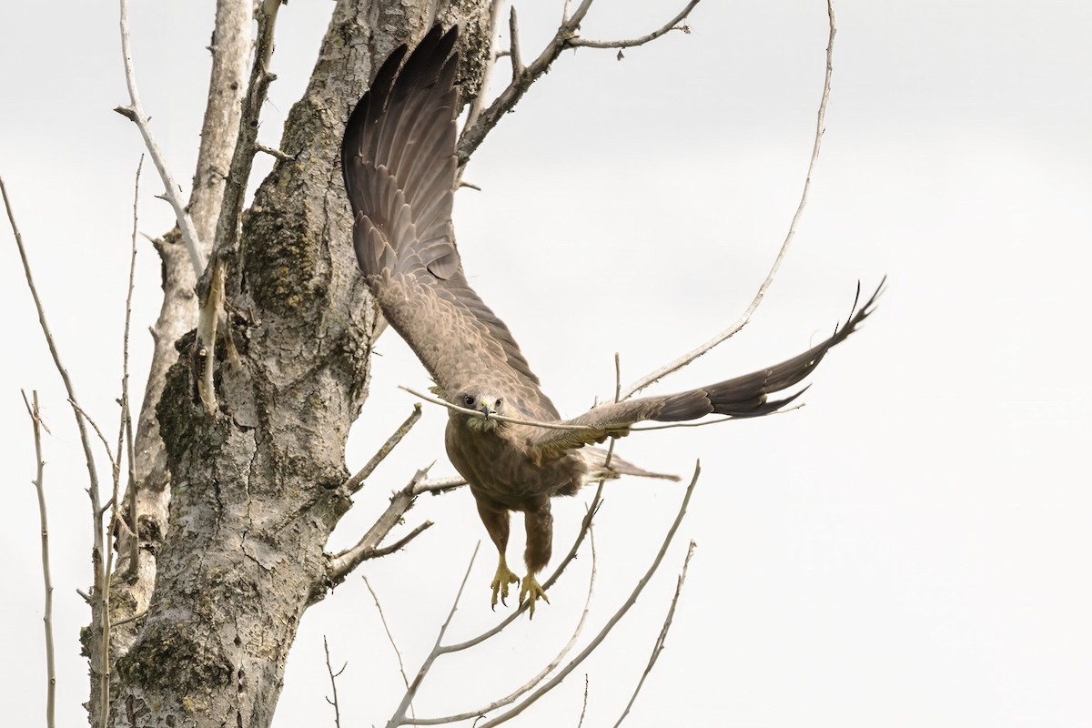
[{"label": "bird's raised brown wing pointing up against the tree trunk", "polygon": [[342,174],[357,263],[444,396],[472,383],[495,387],[527,416],[556,419],[508,326],[466,283],[455,249],[456,37],[458,28],[434,27],[404,65],[406,47],[395,50],[349,116]]}]

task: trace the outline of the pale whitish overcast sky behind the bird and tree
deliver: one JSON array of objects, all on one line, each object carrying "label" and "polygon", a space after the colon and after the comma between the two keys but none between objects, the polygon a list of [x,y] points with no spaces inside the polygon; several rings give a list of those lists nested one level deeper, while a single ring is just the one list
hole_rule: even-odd
[{"label": "pale whitish overcast sky behind the bird and tree", "polygon": [[[679,5],[681,3],[678,3]],[[546,5],[548,12],[545,12]],[[278,80],[261,140],[276,145],[332,3],[282,10]],[[523,2],[525,55],[561,2]],[[193,171],[207,83],[211,0],[134,3],[145,110],[176,178]],[[593,38],[641,35],[677,11],[600,0]],[[687,540],[698,542],[675,622],[628,726],[1078,727],[1092,725],[1092,8],[1084,2],[835,5],[827,133],[794,247],[748,327],[658,385],[688,389],[795,355],[850,310],[857,279],[889,287],[862,332],[811,378],[788,415],[633,434],[619,454],[702,479],[664,565],[592,658],[519,720],[613,725],[646,663]],[[565,53],[476,153],[456,196],[467,275],[512,329],[547,393],[574,415],[733,322],[785,235],[810,155],[827,15],[816,0],[705,0],[690,35],[626,52]],[[502,44],[507,44],[507,32]],[[115,429],[132,177],[142,152],[111,3],[0,7],[0,175],[85,408]],[[498,82],[507,67],[498,65]],[[496,86],[495,91],[499,91]],[[263,162],[254,181],[269,168]],[[140,229],[173,224],[150,165]],[[187,190],[188,194],[188,190]],[[3,223],[7,230],[7,222]],[[82,725],[78,656],[91,578],[79,441],[10,232],[0,234],[9,346],[0,391],[9,473],[0,606],[0,714],[44,725],[45,658],[34,455],[19,389],[38,389],[58,651],[58,725]],[[158,261],[139,253],[132,368],[158,310]],[[399,384],[427,375],[393,332],[361,422],[355,470],[408,414]],[[132,396],[140,398],[139,377]],[[390,491],[438,461],[446,415],[425,417],[357,498],[331,544],[373,521]],[[1083,434],[1082,434],[1083,433]],[[105,460],[99,464],[106,477]],[[585,640],[643,574],[682,487],[609,484],[596,520],[598,581]],[[555,503],[555,551],[583,515]],[[489,625],[494,554],[467,492],[425,498],[406,527],[437,525],[370,563],[406,669],[415,672],[485,539],[450,634]],[[401,532],[400,532],[401,533]],[[395,533],[396,537],[399,534]],[[520,563],[520,532],[509,553]],[[442,658],[419,716],[473,709],[534,675],[583,605],[585,554],[520,621]],[[333,725],[322,636],[348,667],[344,725],[383,725],[397,665],[359,577],[304,620],[275,726]]]}]

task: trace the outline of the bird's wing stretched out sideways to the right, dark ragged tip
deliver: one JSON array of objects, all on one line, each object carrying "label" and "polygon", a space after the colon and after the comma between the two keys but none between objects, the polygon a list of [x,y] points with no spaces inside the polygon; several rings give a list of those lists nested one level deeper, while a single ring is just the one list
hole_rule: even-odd
[{"label": "bird's wing stretched out sideways to the right, dark ragged tip", "polygon": [[[545,460],[548,460],[551,453],[580,447],[592,442],[603,442],[609,435],[628,434],[629,427],[642,420],[676,422],[714,414],[732,417],[760,417],[774,413],[800,396],[804,390],[780,399],[770,399],[767,395],[781,392],[807,377],[822,361],[831,347],[844,342],[868,318],[876,308],[876,299],[882,290],[883,284],[880,283],[876,293],[859,309],[857,309],[858,301],[855,300],[853,311],[850,312],[845,325],[835,330],[827,341],[792,359],[750,374],[689,392],[601,405],[580,417],[563,422],[566,425],[582,425],[592,429],[539,429],[532,444],[538,449]],[[857,296],[859,299],[859,285]]]}]

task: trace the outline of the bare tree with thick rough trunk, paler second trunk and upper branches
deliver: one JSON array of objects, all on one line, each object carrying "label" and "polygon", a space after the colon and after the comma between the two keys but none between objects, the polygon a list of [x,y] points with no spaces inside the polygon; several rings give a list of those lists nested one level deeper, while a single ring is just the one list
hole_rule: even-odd
[{"label": "bare tree with thick rough trunk, paler second trunk and upper branches", "polygon": [[[164,307],[136,418],[124,523],[116,528],[118,565],[109,598],[103,589],[91,595],[84,641],[93,725],[269,725],[308,606],[378,556],[412,504],[413,491],[395,499],[352,554],[324,551],[359,487],[346,472],[344,445],[368,393],[381,330],[353,260],[339,141],[378,63],[434,23],[462,26],[462,103],[474,102],[495,60],[498,5],[337,2],[308,88],[278,150],[266,150],[257,127],[275,77],[280,2],[253,10],[249,79],[237,77],[237,69],[249,52],[251,3],[217,3],[192,195],[187,205],[175,201],[179,227],[157,243]],[[511,84],[491,105],[473,105],[462,162],[563,49],[581,45],[578,27],[590,5],[567,8],[556,37],[529,65],[513,36]],[[118,110],[151,148],[131,64],[127,71],[131,99]],[[244,211],[260,152],[276,163]],[[94,658],[104,639],[108,680]]]}]

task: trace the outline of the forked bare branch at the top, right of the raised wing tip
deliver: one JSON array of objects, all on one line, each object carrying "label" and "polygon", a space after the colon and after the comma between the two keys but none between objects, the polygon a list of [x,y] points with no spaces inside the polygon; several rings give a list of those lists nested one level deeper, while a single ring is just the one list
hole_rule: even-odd
[{"label": "forked bare branch at the top, right of the raised wing tip", "polygon": [[[566,0],[565,11],[561,17],[561,24],[558,26],[557,32],[554,37],[550,38],[546,48],[538,55],[532,63],[527,67],[523,65],[523,60],[520,55],[519,45],[519,32],[515,20],[515,9],[512,9],[510,20],[509,20],[509,31],[511,32],[511,51],[509,56],[512,59],[512,81],[508,84],[508,87],[500,93],[500,95],[494,99],[489,107],[479,114],[474,123],[467,123],[463,128],[462,134],[459,136],[459,165],[463,166],[466,160],[470,159],[471,154],[474,153],[482,142],[485,140],[486,135],[497,126],[497,122],[501,118],[519,104],[523,95],[527,93],[531,85],[534,84],[543,74],[549,71],[550,64],[557,60],[561,51],[567,48],[575,48],[578,46],[590,46],[595,48],[621,48],[629,47],[629,45],[642,45],[655,38],[658,38],[667,31],[675,27],[682,19],[685,19],[690,10],[698,4],[698,0],[691,0],[690,3],[680,12],[678,15],[672,20],[667,26],[662,27],[649,36],[642,38],[636,38],[633,40],[621,40],[616,41],[616,44],[601,44],[598,41],[583,41],[579,36],[580,24],[583,22],[584,16],[587,11],[592,8],[593,0],[583,0],[577,11],[569,14],[569,1]],[[617,45],[617,44],[629,44],[629,45]],[[483,87],[480,93],[486,93],[487,89]]]}]

